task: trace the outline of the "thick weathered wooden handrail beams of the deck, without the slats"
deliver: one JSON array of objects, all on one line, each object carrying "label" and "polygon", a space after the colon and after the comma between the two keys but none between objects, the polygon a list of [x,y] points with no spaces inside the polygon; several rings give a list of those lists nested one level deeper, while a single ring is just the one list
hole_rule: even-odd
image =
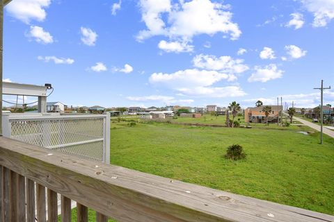
[{"label": "thick weathered wooden handrail beams of the deck, without the slats", "polygon": [[7,138],[0,138],[0,164],[118,221],[334,221],[331,215],[83,160]]}]

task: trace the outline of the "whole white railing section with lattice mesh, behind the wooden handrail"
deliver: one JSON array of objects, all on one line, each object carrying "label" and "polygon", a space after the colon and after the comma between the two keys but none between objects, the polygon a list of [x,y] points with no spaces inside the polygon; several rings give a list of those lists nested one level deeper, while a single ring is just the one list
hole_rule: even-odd
[{"label": "whole white railing section with lattice mesh, behind the wooden handrail", "polygon": [[3,113],[3,136],[110,162],[110,114]]}]

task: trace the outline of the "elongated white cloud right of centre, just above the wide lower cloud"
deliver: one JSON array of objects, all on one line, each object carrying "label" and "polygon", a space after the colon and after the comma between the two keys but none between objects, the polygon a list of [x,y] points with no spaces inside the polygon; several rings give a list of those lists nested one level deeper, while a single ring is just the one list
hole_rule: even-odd
[{"label": "elongated white cloud right of centre, just above the wide lower cloud", "polygon": [[194,67],[219,70],[228,74],[240,74],[248,70],[248,66],[243,64],[244,60],[232,59],[230,56],[209,56],[200,54],[193,58]]}]

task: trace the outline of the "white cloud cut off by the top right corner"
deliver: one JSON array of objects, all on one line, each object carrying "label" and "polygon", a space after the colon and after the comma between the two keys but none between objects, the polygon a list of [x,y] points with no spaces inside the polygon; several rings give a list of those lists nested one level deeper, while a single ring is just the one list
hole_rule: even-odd
[{"label": "white cloud cut off by the top right corner", "polygon": [[333,0],[299,0],[315,17],[312,23],[314,27],[324,27],[334,18]]}]

